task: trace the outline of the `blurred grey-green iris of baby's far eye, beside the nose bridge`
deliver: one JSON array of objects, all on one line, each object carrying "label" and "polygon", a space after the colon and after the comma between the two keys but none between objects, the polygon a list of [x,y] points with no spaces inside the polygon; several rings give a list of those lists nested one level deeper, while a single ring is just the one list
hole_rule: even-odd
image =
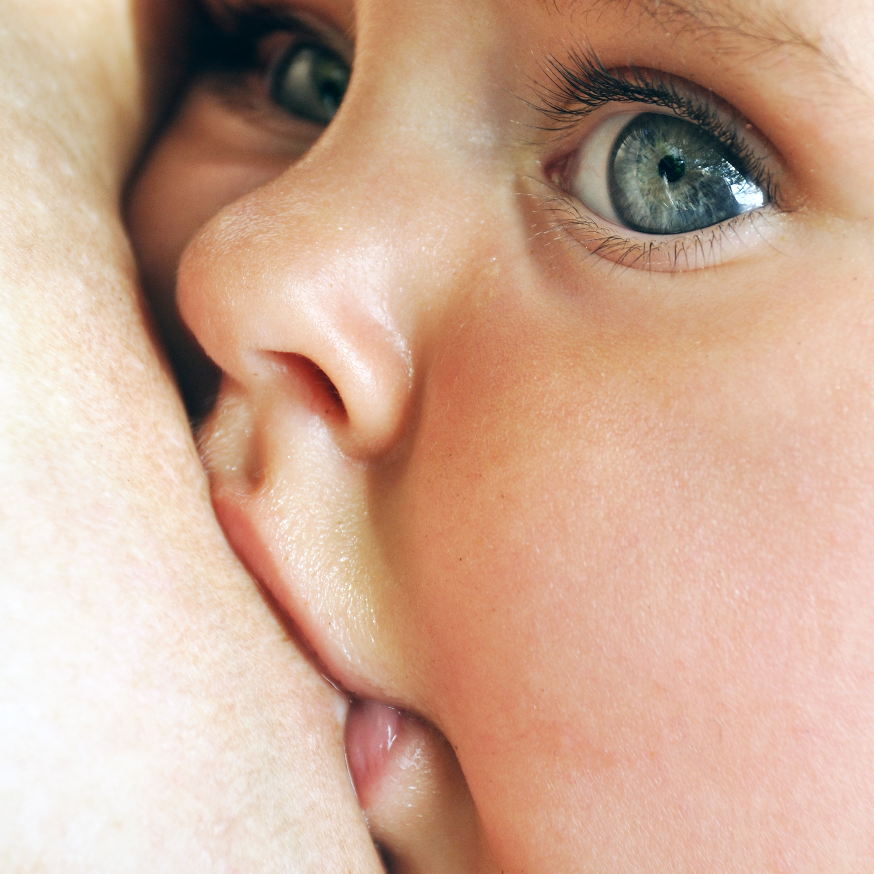
[{"label": "blurred grey-green iris of baby's far eye, beside the nose bridge", "polygon": [[346,87],[349,65],[324,45],[291,45],[267,73],[270,98],[292,115],[328,124]]}]

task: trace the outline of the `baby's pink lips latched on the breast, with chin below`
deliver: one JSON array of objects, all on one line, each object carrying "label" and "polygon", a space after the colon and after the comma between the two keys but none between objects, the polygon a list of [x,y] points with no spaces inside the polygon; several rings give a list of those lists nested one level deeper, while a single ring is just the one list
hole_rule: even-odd
[{"label": "baby's pink lips latched on the breast, with chin below", "polygon": [[[373,697],[370,683],[323,655],[313,619],[298,617],[283,598],[278,570],[248,512],[239,483],[213,483],[213,505],[225,536],[264,591],[302,652],[337,690],[350,696],[345,752],[371,837],[389,874],[488,874],[499,870],[482,830],[461,766],[447,739],[410,713]],[[324,640],[325,638],[321,638]],[[372,687],[371,687],[372,688]],[[356,697],[358,696],[358,697]]]}]

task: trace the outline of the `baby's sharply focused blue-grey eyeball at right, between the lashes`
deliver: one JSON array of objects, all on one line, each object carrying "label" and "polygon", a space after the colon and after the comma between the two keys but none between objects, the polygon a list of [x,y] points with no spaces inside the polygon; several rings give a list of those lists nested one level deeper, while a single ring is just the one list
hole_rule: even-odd
[{"label": "baby's sharply focused blue-grey eyeball at right, between the lashes", "polygon": [[768,202],[739,156],[668,112],[608,116],[569,170],[570,193],[602,218],[642,233],[697,231]]}]

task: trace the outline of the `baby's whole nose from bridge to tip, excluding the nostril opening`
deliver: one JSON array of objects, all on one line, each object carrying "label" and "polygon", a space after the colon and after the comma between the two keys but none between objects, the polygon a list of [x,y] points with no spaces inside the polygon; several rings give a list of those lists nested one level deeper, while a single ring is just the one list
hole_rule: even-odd
[{"label": "baby's whole nose from bridge to tip, excluding the nostril opening", "polygon": [[413,51],[413,6],[439,12],[400,4],[387,43],[385,22],[364,17],[335,121],[300,163],[220,212],[179,272],[180,309],[223,370],[246,382],[265,352],[309,358],[374,449],[398,433],[417,315],[438,291],[437,262],[468,239],[482,184],[471,164],[489,150],[457,75],[464,41],[447,51],[436,32]]}]

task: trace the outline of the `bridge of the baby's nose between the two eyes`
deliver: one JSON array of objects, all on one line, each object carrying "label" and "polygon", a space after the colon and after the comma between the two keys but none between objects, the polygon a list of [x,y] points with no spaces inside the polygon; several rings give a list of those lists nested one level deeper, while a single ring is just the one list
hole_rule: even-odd
[{"label": "bridge of the baby's nose between the two eyes", "polygon": [[478,88],[475,70],[486,66],[471,36],[478,31],[458,20],[457,4],[452,16],[444,5],[361,3],[355,71],[340,112],[272,187],[278,213],[304,205],[303,220],[318,219],[317,244],[357,269],[366,261],[377,286],[406,286],[435,240],[444,253],[451,247],[494,155],[488,89]]}]

